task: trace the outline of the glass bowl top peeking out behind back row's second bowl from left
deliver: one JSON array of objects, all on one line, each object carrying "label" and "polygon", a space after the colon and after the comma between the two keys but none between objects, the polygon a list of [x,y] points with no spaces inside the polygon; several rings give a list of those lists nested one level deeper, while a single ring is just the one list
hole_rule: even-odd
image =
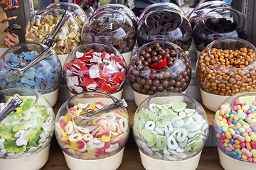
[{"label": "glass bowl top peeking out behind back row's second bowl from left", "polygon": [[133,11],[127,6],[124,6],[122,4],[105,4],[100,6],[99,8],[96,8],[94,13],[107,10],[116,10],[123,13],[124,15],[127,15],[131,19],[134,28],[137,29],[137,17],[133,13]]}]

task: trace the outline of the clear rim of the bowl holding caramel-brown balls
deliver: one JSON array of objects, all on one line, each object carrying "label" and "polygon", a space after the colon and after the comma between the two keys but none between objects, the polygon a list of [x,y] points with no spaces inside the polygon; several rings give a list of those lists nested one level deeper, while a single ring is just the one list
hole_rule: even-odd
[{"label": "clear rim of the bowl holding caramel-brown balls", "polygon": [[[225,37],[225,38],[219,38],[219,39],[217,39],[217,40],[214,40],[213,42],[210,42],[210,44],[206,46],[206,48],[207,48],[207,47],[209,48],[209,50],[208,50],[208,55],[209,55],[210,58],[213,58],[213,57],[210,55],[210,50],[212,49],[213,45],[215,44],[215,42],[219,42],[219,41],[222,41],[222,40],[239,40],[239,41],[245,42],[245,44],[250,45],[250,47],[252,47],[252,50],[254,50],[255,53],[256,53],[256,47],[255,47],[254,45],[252,45],[252,43],[248,42],[247,40],[243,40],[243,39],[241,39],[241,38],[232,38],[232,37],[228,38],[228,37]],[[256,57],[255,57],[255,60],[254,60],[251,64],[255,64],[255,62],[256,62]],[[218,63],[215,62],[215,64],[218,64]],[[250,67],[251,64],[249,64],[249,65],[247,65],[247,66],[245,66],[245,67],[240,67],[240,68],[236,68],[236,69],[246,69],[247,67]],[[226,69],[231,69],[231,70],[232,70],[232,69],[235,69],[235,68],[228,68],[228,67],[225,67],[225,66],[220,65],[220,64],[218,64],[218,65],[219,65],[220,67],[224,67],[224,68],[226,68]]]}]

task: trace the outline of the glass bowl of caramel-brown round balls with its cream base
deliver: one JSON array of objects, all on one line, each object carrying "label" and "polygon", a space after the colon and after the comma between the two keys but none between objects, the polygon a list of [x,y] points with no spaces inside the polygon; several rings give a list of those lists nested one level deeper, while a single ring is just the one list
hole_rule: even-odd
[{"label": "glass bowl of caramel-brown round balls with its cream base", "polygon": [[240,38],[211,42],[196,66],[203,105],[215,112],[229,96],[255,91],[255,69],[255,47],[250,42]]}]

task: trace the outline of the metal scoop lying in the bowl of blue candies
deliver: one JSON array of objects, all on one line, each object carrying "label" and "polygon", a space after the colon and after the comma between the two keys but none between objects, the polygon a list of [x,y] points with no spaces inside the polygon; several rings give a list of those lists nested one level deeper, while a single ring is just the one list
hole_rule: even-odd
[{"label": "metal scoop lying in the bowl of blue candies", "polygon": [[41,62],[41,60],[50,57],[50,55],[54,54],[54,50],[52,47],[48,47],[45,51],[41,52],[36,58],[34,58],[30,63],[23,68],[10,69],[6,74],[6,81],[9,84],[15,84],[17,81],[20,81],[22,77],[25,76],[25,72],[27,69],[31,68],[33,65]]}]

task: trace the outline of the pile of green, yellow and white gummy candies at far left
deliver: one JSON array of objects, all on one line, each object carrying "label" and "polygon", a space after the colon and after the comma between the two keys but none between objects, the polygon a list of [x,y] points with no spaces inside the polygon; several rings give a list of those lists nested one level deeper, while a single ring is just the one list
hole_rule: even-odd
[{"label": "pile of green, yellow and white gummy candies at far left", "polygon": [[[38,105],[43,101],[35,104],[33,98],[19,98],[23,101],[21,105],[0,123],[1,158],[18,159],[41,152],[53,137],[53,109]],[[0,111],[7,103],[0,103]]]}]

